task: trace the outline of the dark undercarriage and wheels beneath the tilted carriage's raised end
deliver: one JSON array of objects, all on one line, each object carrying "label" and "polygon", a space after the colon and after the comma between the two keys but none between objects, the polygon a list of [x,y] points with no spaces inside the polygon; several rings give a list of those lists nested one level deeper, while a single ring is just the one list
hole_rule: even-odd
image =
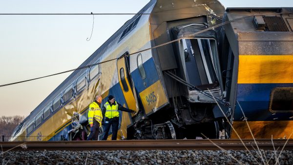
[{"label": "dark undercarriage and wheels beneath the tilted carriage's raised end", "polygon": [[189,103],[177,113],[164,108],[128,128],[127,139],[228,139],[230,125],[225,117],[214,118],[215,106]]}]

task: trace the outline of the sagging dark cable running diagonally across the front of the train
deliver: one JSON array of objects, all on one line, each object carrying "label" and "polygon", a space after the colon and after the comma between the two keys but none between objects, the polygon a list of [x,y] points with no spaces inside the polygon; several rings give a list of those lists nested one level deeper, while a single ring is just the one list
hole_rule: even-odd
[{"label": "sagging dark cable running diagonally across the front of the train", "polygon": [[[286,13],[278,13],[278,14],[293,14],[291,12],[286,12]],[[1,14],[0,14],[1,15]],[[90,14],[88,14],[90,15]],[[209,14],[210,15],[210,14]],[[140,51],[137,51],[137,52],[134,52],[134,53],[131,53],[131,54],[128,54],[128,55],[124,55],[124,56],[121,56],[119,58],[114,58],[114,59],[110,59],[110,60],[106,60],[104,62],[98,62],[98,63],[94,63],[94,64],[90,64],[90,65],[86,65],[86,66],[82,66],[82,67],[79,67],[79,68],[76,68],[76,69],[71,69],[71,70],[67,70],[67,71],[63,71],[63,72],[59,72],[59,73],[55,73],[55,74],[51,74],[51,75],[47,75],[47,76],[42,76],[42,77],[39,77],[39,78],[34,78],[34,79],[29,79],[29,80],[24,80],[24,81],[20,81],[20,82],[12,82],[12,83],[7,83],[7,84],[3,84],[3,85],[0,85],[0,87],[3,87],[3,86],[8,86],[8,85],[13,85],[13,84],[18,84],[18,83],[22,83],[22,82],[29,82],[29,81],[33,81],[33,80],[38,80],[38,79],[42,79],[42,78],[46,78],[46,77],[51,77],[51,76],[55,76],[55,75],[59,75],[59,74],[63,74],[63,73],[67,73],[67,72],[72,72],[72,71],[75,71],[75,70],[80,70],[80,69],[84,69],[84,68],[88,68],[88,67],[91,67],[91,66],[94,66],[94,65],[98,65],[98,64],[101,64],[101,63],[105,63],[105,62],[111,62],[111,61],[114,61],[114,60],[118,60],[118,59],[121,59],[121,58],[124,58],[124,57],[128,57],[128,56],[131,56],[131,55],[134,55],[134,54],[138,54],[138,53],[141,53],[141,52],[145,52],[147,50],[151,50],[151,49],[154,49],[154,48],[157,48],[157,47],[161,47],[161,46],[164,46],[164,45],[167,45],[169,43],[173,43],[173,42],[176,42],[176,41],[180,41],[180,40],[183,40],[185,38],[188,38],[188,37],[192,37],[194,35],[197,35],[197,34],[200,34],[200,33],[203,33],[203,32],[206,32],[206,31],[209,31],[209,30],[212,30],[214,28],[217,28],[217,27],[220,27],[220,26],[223,26],[225,24],[228,24],[228,23],[231,23],[231,22],[234,22],[234,21],[239,21],[239,20],[243,20],[243,19],[247,19],[247,18],[251,18],[251,17],[254,17],[254,16],[264,16],[264,15],[275,15],[275,14],[257,14],[257,15],[251,15],[251,16],[246,16],[246,17],[241,17],[241,18],[238,18],[238,19],[234,19],[234,20],[230,20],[230,21],[226,21],[226,22],[223,22],[223,23],[220,23],[220,24],[217,24],[215,26],[211,26],[207,29],[204,29],[204,30],[201,30],[201,31],[198,31],[196,33],[192,33],[188,36],[185,36],[185,37],[182,37],[182,38],[178,38],[176,40],[172,40],[172,41],[168,41],[168,42],[165,42],[165,43],[162,43],[162,44],[159,44],[159,45],[156,45],[156,46],[153,46],[153,47],[150,47],[150,48],[146,48],[146,49],[143,49],[143,50],[140,50]]]}]

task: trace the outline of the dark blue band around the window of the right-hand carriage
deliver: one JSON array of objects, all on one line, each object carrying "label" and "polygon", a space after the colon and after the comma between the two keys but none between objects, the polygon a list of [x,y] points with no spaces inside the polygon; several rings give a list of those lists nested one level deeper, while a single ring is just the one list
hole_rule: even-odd
[{"label": "dark blue band around the window of the right-hand carriage", "polygon": [[[293,120],[293,113],[272,113],[269,110],[271,91],[276,87],[293,87],[293,83],[258,83],[238,84],[237,101],[240,103],[248,121]],[[241,109],[236,103],[234,120],[244,119]]]}]

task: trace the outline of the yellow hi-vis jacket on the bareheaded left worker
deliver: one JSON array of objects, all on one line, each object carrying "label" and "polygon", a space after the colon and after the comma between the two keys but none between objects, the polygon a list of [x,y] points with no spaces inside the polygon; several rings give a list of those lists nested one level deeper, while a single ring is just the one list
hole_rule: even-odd
[{"label": "yellow hi-vis jacket on the bareheaded left worker", "polygon": [[88,124],[93,124],[93,119],[95,119],[100,124],[100,126],[102,125],[103,115],[102,115],[102,110],[100,106],[98,105],[98,103],[93,102],[89,104],[87,117],[88,117]]}]

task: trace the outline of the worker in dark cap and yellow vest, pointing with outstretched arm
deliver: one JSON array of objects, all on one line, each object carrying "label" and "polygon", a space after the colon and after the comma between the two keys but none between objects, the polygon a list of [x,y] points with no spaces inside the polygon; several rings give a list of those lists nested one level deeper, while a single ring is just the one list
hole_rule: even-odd
[{"label": "worker in dark cap and yellow vest, pointing with outstretched arm", "polygon": [[135,113],[134,110],[125,108],[120,103],[117,103],[115,101],[114,96],[109,95],[108,101],[104,104],[104,106],[102,106],[102,113],[104,117],[103,120],[105,120],[104,121],[105,134],[104,134],[103,140],[107,140],[111,125],[112,125],[112,140],[117,139],[118,125],[119,125],[119,111],[118,110]]}]

